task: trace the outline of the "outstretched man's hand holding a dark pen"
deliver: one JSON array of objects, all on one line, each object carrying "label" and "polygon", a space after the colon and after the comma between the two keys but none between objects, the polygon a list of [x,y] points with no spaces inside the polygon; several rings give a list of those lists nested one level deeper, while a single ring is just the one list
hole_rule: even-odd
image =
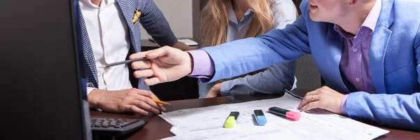
[{"label": "outstretched man's hand holding a dark pen", "polygon": [[188,52],[169,46],[130,55],[130,59],[140,57],[147,57],[149,60],[132,62],[132,69],[144,69],[134,71],[134,77],[136,78],[153,77],[144,80],[146,85],[178,80],[193,71],[192,58]]}]

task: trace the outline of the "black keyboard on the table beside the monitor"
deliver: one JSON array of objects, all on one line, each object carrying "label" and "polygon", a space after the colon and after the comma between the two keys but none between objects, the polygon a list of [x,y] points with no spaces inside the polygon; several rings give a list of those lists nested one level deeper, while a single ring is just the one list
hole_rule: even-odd
[{"label": "black keyboard on the table beside the monitor", "polygon": [[94,135],[120,136],[140,130],[146,123],[146,120],[127,118],[90,118],[90,127]]}]

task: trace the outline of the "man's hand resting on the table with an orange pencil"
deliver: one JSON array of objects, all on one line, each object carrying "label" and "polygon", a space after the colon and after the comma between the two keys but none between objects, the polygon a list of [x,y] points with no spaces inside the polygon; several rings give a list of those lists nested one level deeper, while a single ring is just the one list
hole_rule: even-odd
[{"label": "man's hand resting on the table with an orange pencil", "polygon": [[147,116],[148,111],[156,114],[166,111],[162,104],[156,104],[151,98],[158,99],[152,92],[136,88],[117,91],[95,89],[87,95],[90,107],[108,112],[134,112]]}]

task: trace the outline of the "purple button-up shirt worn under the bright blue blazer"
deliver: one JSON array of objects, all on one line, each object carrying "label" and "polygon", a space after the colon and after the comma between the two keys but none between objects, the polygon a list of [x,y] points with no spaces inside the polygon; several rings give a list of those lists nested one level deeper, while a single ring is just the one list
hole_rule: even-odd
[{"label": "purple button-up shirt worn under the bright blue blazer", "polygon": [[[338,25],[334,25],[335,31],[343,36],[344,45],[342,57],[339,62],[339,69],[342,73],[346,87],[350,92],[364,91],[376,93],[369,65],[370,42],[374,27],[377,25],[379,13],[381,12],[382,1],[377,0],[367,15],[356,36],[344,31]],[[351,85],[349,85],[351,84]],[[347,95],[342,99],[342,114],[347,114]]]}]

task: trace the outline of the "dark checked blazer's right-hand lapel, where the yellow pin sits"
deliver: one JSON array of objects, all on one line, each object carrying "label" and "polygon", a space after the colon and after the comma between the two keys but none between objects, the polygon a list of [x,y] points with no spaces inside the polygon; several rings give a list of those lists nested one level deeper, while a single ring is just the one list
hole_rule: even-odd
[{"label": "dark checked blazer's right-hand lapel, where the yellow pin sits", "polygon": [[134,6],[137,6],[137,3],[133,0],[117,0],[117,3],[123,12],[125,22],[130,29],[130,38],[134,52],[140,52],[140,27],[139,24],[133,25],[132,23],[132,18],[134,18]]}]

